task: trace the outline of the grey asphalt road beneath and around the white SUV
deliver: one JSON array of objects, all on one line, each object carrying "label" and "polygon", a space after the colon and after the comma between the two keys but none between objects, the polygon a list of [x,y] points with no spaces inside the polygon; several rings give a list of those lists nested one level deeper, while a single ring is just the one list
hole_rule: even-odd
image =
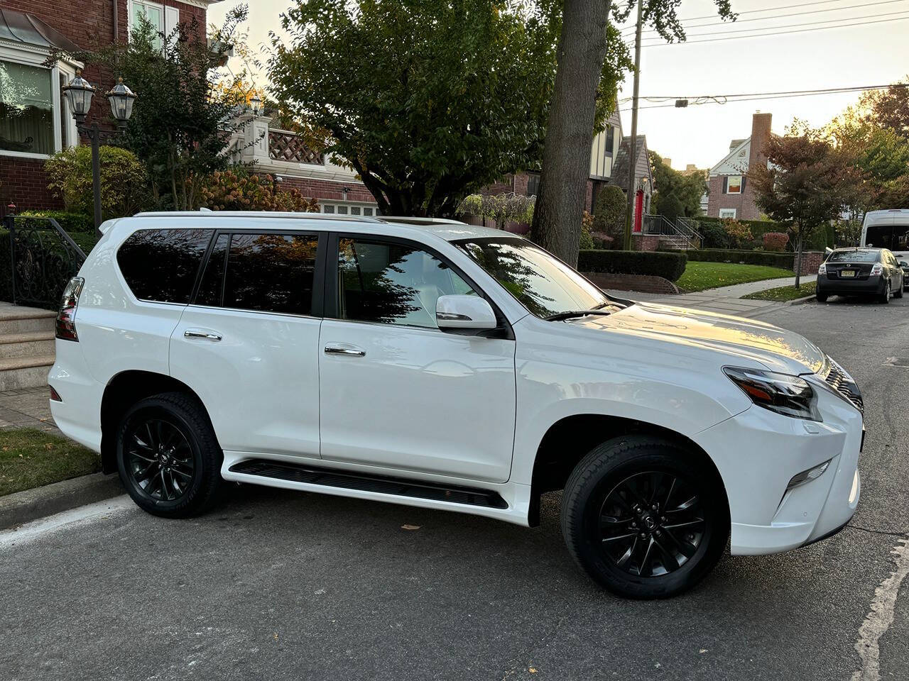
[{"label": "grey asphalt road beneath and around the white SUV", "polygon": [[575,568],[555,494],[535,529],[249,487],[190,521],[115,500],[0,533],[0,677],[905,679],[909,298],[764,318],[864,390],[862,503],[834,538],[633,602]]}]

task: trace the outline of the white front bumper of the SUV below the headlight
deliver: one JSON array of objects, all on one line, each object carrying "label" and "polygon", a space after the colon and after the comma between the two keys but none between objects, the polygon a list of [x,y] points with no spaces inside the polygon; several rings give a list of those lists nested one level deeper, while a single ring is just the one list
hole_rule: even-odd
[{"label": "white front bumper of the SUV below the headlight", "polygon": [[[694,438],[723,478],[732,521],[732,553],[778,553],[828,537],[853,517],[862,414],[817,384],[823,422],[754,406]],[[830,461],[819,478],[786,491],[789,481]]]}]

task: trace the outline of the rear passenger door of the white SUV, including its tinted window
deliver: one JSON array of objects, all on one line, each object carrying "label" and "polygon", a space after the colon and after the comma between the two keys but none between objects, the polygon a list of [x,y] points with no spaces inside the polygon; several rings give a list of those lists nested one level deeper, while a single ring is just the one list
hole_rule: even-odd
[{"label": "rear passenger door of the white SUV, including its tinted window", "polygon": [[301,232],[215,238],[171,336],[170,367],[205,403],[223,449],[319,456],[318,241]]}]

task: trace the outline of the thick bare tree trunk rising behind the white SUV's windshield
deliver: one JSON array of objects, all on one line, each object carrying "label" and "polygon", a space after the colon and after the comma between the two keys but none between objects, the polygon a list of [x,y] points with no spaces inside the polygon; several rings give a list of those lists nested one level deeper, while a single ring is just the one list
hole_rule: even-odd
[{"label": "thick bare tree trunk rising behind the white SUV's windshield", "polygon": [[546,123],[540,193],[530,236],[574,266],[594,142],[596,89],[611,0],[565,0],[555,90]]}]

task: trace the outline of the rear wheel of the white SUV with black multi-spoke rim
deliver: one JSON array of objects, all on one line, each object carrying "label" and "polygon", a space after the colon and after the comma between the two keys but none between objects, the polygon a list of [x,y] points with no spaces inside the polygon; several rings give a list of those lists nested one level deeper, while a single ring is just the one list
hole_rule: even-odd
[{"label": "rear wheel of the white SUV with black multi-spoke rim", "polygon": [[211,507],[223,460],[205,408],[186,393],[139,400],[117,429],[120,479],[136,505],[155,516],[187,518]]}]

